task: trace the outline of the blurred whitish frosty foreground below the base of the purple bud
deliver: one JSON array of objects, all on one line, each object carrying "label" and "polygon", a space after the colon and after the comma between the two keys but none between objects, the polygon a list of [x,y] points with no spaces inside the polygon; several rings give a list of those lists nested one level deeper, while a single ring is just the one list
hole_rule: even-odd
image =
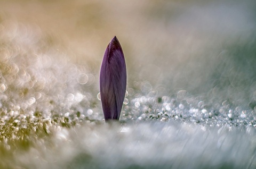
[{"label": "blurred whitish frosty foreground below the base of the purple bud", "polygon": [[[170,122],[61,129],[19,157],[29,168],[254,168],[252,126]],[[41,146],[46,147],[41,147]],[[33,158],[31,158],[33,157]]]}]

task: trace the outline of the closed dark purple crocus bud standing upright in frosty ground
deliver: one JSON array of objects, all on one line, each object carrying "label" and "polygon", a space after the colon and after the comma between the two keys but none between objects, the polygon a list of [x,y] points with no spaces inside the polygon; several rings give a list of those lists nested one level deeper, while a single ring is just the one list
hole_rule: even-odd
[{"label": "closed dark purple crocus bud standing upright in frosty ground", "polygon": [[114,37],[107,46],[100,70],[100,97],[105,120],[119,120],[126,89],[122,47]]}]

